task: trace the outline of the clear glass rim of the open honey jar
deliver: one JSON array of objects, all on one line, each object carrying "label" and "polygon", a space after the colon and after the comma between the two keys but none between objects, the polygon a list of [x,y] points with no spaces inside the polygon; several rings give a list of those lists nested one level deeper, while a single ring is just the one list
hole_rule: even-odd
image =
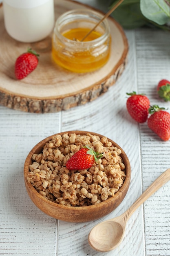
[{"label": "clear glass rim of the open honey jar", "polygon": [[[68,18],[68,16],[70,17],[73,17],[75,16],[76,17],[76,14],[83,14],[84,17],[86,16],[86,18],[95,18],[97,20],[97,22],[99,20],[101,20],[103,18],[104,15],[102,15],[102,13],[99,13],[97,11],[94,11],[94,10],[91,10],[91,9],[73,9],[73,10],[70,10],[70,11],[66,11],[64,12],[63,14],[61,14],[56,22],[55,22],[55,27],[54,27],[54,34],[56,34],[62,41],[64,41],[64,43],[68,43],[69,45],[79,45],[80,47],[87,47],[87,45],[89,46],[89,44],[102,44],[104,40],[106,40],[106,38],[109,36],[110,34],[110,27],[109,27],[109,24],[108,24],[108,20],[107,19],[104,19],[100,25],[103,25],[104,27],[104,34],[102,34],[102,36],[99,36],[98,38],[94,39],[94,40],[91,40],[91,41],[74,41],[74,40],[71,40],[71,39],[68,39],[66,38],[65,36],[63,36],[61,33],[60,33],[60,25],[62,24],[62,22],[64,22],[66,20],[66,18]],[[71,16],[72,15],[72,16]],[[90,16],[91,15],[91,16]],[[90,20],[90,19],[89,19]],[[96,24],[97,24],[96,22]],[[68,21],[69,23],[69,21]],[[95,25],[94,25],[95,26]]]}]

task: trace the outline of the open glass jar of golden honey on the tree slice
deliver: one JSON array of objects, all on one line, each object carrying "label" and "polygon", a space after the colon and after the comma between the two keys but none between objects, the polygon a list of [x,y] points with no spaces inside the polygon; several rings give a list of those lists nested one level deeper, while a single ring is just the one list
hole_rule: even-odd
[{"label": "open glass jar of golden honey on the tree slice", "polygon": [[104,19],[83,41],[103,15],[91,9],[76,9],[62,14],[55,23],[52,56],[57,65],[78,73],[93,72],[110,56],[110,28]]}]

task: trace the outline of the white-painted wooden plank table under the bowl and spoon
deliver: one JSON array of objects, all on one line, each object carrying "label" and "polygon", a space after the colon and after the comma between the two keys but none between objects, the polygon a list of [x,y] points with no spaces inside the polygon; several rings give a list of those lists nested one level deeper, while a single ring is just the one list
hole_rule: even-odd
[{"label": "white-painted wooden plank table under the bowl and spoon", "polygon": [[[97,1],[81,1],[97,7]],[[100,7],[99,7],[100,8]],[[157,96],[159,80],[170,79],[170,34],[154,29],[126,31],[125,71],[104,95],[84,106],[51,114],[31,114],[0,106],[0,255],[170,256],[170,182],[150,197],[128,221],[117,249],[96,252],[88,233],[97,223],[123,213],[170,167],[170,140],[161,141],[146,123],[126,110],[126,92],[145,93],[151,104],[168,108]],[[35,144],[57,132],[88,130],[106,135],[129,157],[129,191],[119,207],[93,222],[69,223],[41,212],[26,193],[24,161]]]}]

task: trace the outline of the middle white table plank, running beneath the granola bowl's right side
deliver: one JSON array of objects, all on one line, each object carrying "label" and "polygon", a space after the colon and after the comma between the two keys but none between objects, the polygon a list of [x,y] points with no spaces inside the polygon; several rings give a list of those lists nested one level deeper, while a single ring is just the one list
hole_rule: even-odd
[{"label": "middle white table plank, running beneath the granola bowl's right side", "polygon": [[[73,252],[75,256],[102,255],[88,246],[87,237],[91,227],[102,220],[113,218],[123,213],[142,192],[141,166],[139,162],[139,126],[127,115],[126,110],[126,92],[137,90],[135,52],[133,51],[135,34],[129,31],[126,32],[126,36],[130,45],[128,64],[119,81],[114,87],[109,88],[106,94],[96,99],[95,104],[91,102],[87,103],[83,108],[79,106],[62,112],[63,120],[65,120],[62,124],[62,130],[68,130],[68,128],[71,130],[73,128],[79,130],[90,129],[94,132],[100,131],[101,134],[118,141],[126,150],[130,159],[132,168],[130,188],[119,207],[100,220],[92,223],[88,222],[82,226],[77,223],[74,226],[67,222],[59,222],[59,241],[61,241],[58,247],[59,255],[70,256]],[[120,88],[121,91],[119,90]],[[131,150],[131,148],[133,149]],[[70,237],[70,240],[68,237]],[[68,246],[64,247],[66,243],[68,243]],[[80,252],[82,248],[83,250]],[[143,210],[140,207],[128,222],[125,238],[121,245],[114,251],[107,252],[107,255],[141,256],[144,253]]]}]

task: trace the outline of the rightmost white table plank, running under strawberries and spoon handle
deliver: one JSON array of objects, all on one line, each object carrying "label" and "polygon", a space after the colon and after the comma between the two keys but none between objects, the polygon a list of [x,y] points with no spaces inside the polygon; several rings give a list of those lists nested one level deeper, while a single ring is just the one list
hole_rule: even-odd
[{"label": "rightmost white table plank, running under strawberries and spoon handle", "polygon": [[[170,102],[158,97],[157,83],[170,80],[170,34],[161,30],[136,31],[139,93],[145,93],[151,105],[157,104],[170,112]],[[167,109],[168,108],[168,109]],[[145,190],[163,171],[170,167],[170,140],[162,141],[147,126],[140,125],[142,178]],[[144,204],[146,252],[148,256],[170,255],[170,182]]]}]

